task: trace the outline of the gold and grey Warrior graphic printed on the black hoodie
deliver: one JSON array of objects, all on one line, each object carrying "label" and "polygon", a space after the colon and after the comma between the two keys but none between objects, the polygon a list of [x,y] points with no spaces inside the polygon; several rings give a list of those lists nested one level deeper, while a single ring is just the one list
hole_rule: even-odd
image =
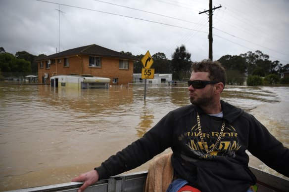
[{"label": "gold and grey Warrior graphic printed on the black hoodie", "polygon": [[188,135],[188,146],[193,151],[194,154],[199,156],[199,158],[212,158],[215,155],[219,156],[228,156],[235,158],[235,152],[238,151],[241,146],[239,145],[238,133],[234,127],[231,125],[226,125],[224,128],[223,135],[216,149],[210,154],[206,154],[205,148],[210,150],[214,147],[220,132],[202,132],[204,138],[204,145],[201,142],[199,137],[199,131],[197,124],[193,126],[191,132],[187,133]]}]

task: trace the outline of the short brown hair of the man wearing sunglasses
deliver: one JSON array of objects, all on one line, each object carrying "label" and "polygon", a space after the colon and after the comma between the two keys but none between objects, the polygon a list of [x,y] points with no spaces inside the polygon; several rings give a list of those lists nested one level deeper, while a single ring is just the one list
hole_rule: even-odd
[{"label": "short brown hair of the man wearing sunglasses", "polygon": [[210,80],[222,82],[226,84],[226,71],[222,64],[218,61],[204,59],[200,62],[194,62],[192,65],[194,72],[208,72]]}]

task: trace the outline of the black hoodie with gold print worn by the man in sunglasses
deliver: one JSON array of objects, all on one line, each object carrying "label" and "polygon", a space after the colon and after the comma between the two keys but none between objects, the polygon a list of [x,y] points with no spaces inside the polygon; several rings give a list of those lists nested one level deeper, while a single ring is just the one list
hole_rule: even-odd
[{"label": "black hoodie with gold print worn by the man in sunglasses", "polygon": [[[99,179],[134,169],[167,148],[173,151],[175,175],[201,192],[246,192],[256,182],[248,168],[248,150],[269,167],[289,177],[289,149],[285,148],[253,115],[221,101],[223,117],[205,114],[189,105],[165,115],[144,136],[96,167]],[[200,116],[199,137],[196,113]],[[225,128],[216,149],[223,120]]]}]

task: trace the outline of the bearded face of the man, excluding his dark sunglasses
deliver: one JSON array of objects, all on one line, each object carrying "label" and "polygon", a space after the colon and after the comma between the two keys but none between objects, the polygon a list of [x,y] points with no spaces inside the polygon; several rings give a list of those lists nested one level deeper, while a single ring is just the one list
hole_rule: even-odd
[{"label": "bearded face of the man, excluding his dark sunglasses", "polygon": [[[210,80],[208,72],[192,72],[190,80]],[[214,84],[207,84],[204,88],[196,89],[189,86],[190,101],[192,104],[206,105],[212,100]]]}]

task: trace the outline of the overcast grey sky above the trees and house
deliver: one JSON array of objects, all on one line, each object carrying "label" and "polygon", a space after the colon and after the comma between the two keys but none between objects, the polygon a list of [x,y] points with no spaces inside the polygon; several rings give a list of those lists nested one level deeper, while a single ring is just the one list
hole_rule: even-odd
[{"label": "overcast grey sky above the trees and house", "polygon": [[[213,12],[213,60],[260,50],[289,63],[289,0],[213,0],[220,5]],[[208,58],[208,15],[199,14],[207,9],[209,0],[0,0],[0,47],[50,55],[97,44],[171,59],[184,44],[199,61]]]}]

